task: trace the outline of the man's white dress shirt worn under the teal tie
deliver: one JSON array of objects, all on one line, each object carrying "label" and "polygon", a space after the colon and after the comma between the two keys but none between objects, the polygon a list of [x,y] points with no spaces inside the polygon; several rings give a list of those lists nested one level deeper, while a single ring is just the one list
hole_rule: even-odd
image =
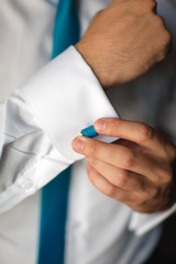
[{"label": "man's white dress shirt worn under the teal tie", "polygon": [[[80,1],[81,34],[92,15],[109,2]],[[173,33],[174,46],[176,2],[160,0],[157,10]],[[162,128],[174,140],[176,51],[173,48],[166,62],[138,80],[109,91],[109,101],[74,47],[48,63],[55,12],[54,1],[2,0],[1,3],[1,263],[36,263],[40,189],[75,162],[65,263],[142,263],[158,240],[160,228],[154,227],[175,211],[176,206],[161,213],[142,215],[106,197],[89,183],[85,161],[73,152],[70,143],[96,119],[117,117],[110,101],[121,117]]]}]

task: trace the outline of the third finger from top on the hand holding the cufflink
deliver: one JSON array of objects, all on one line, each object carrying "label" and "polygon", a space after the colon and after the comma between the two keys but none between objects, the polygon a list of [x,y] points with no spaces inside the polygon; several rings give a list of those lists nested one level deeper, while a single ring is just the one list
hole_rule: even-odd
[{"label": "third finger from top on the hand holding the cufflink", "polygon": [[92,157],[86,157],[86,160],[96,172],[102,175],[109,183],[121,189],[141,194],[150,190],[152,187],[152,184],[142,175],[114,167]]}]

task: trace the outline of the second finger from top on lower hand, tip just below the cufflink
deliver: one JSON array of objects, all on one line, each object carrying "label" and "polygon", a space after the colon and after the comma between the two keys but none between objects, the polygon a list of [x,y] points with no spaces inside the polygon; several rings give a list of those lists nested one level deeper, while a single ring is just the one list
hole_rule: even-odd
[{"label": "second finger from top on lower hand, tip just below the cufflink", "polygon": [[120,144],[108,144],[97,140],[78,136],[73,141],[73,148],[96,160],[100,160],[112,166],[123,168],[146,176],[151,182],[158,182],[156,160],[150,155],[131,150]]}]

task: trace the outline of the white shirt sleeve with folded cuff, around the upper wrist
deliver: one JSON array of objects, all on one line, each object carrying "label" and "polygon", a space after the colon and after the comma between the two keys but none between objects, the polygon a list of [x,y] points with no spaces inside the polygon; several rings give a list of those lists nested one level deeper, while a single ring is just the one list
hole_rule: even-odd
[{"label": "white shirt sleeve with folded cuff, around the upper wrist", "polygon": [[72,141],[101,117],[118,116],[73,46],[0,103],[0,213],[81,158]]}]

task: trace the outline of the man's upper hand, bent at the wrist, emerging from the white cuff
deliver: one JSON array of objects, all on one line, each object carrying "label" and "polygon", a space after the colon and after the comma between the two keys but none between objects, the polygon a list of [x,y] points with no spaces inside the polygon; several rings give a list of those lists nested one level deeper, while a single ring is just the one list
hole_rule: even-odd
[{"label": "man's upper hand, bent at the wrist, emerging from the white cuff", "polygon": [[113,0],[76,45],[103,88],[130,81],[164,59],[170,34],[154,0]]}]

